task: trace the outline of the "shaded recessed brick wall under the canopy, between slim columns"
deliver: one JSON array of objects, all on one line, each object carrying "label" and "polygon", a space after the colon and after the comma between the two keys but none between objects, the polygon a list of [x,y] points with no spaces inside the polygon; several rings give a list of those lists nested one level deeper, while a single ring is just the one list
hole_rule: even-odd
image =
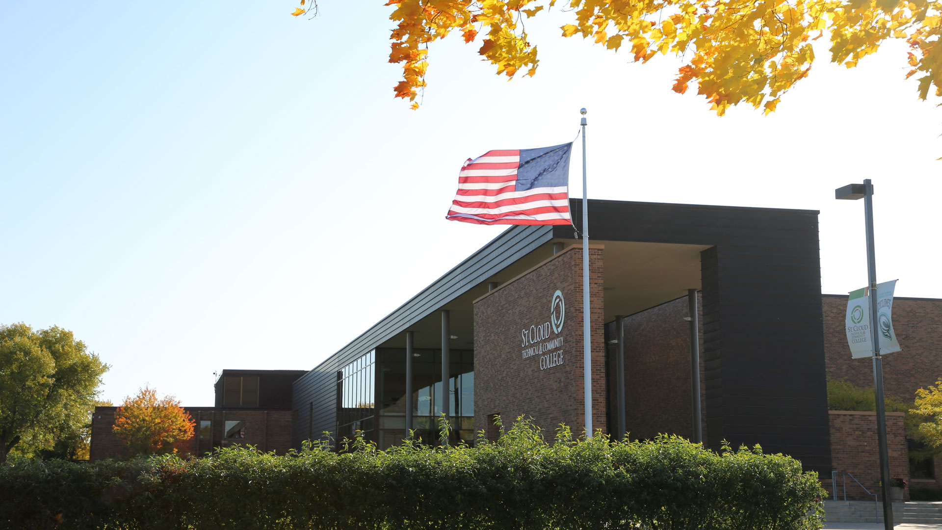
[{"label": "shaded recessed brick wall under the canopy, between slim columns", "polygon": [[[703,306],[699,303],[703,351]],[[690,323],[687,297],[625,318],[625,425],[631,439],[658,433],[692,438],[690,406]],[[700,409],[707,439],[707,384],[700,356]]]}]

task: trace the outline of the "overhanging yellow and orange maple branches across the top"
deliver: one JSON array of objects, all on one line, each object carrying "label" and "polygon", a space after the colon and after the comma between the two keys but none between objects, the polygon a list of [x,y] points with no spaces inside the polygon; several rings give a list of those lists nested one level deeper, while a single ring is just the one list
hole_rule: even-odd
[{"label": "overhanging yellow and orange maple branches across the top", "polygon": [[[394,10],[389,62],[402,65],[396,97],[413,102],[426,86],[429,43],[460,31],[467,43],[480,41],[478,53],[513,77],[536,73],[536,45],[524,21],[556,0],[388,0]],[[292,13],[305,13],[302,8]],[[906,77],[918,77],[918,97],[930,88],[942,96],[940,0],[570,0],[574,24],[562,36],[581,35],[610,50],[623,46],[633,60],[647,62],[658,53],[684,58],[674,91],[690,82],[717,114],[747,103],[775,106],[803,79],[815,59],[811,42],[827,35],[831,60],[848,68],[877,51],[888,39],[910,48]],[[317,4],[311,7],[316,13]]]}]

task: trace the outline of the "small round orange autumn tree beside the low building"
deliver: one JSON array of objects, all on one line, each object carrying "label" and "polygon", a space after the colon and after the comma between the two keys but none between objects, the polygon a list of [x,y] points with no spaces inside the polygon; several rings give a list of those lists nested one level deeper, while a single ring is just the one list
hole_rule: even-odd
[{"label": "small round orange autumn tree beside the low building", "polygon": [[115,412],[114,432],[135,455],[165,455],[193,438],[195,424],[173,396],[158,399],[154,389],[144,387],[124,398]]}]

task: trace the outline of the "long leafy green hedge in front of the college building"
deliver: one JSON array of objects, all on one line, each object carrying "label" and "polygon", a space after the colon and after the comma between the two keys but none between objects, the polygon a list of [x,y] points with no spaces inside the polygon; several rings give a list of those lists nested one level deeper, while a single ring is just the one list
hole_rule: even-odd
[{"label": "long leafy green hedge in front of the college building", "polygon": [[755,448],[720,454],[675,436],[555,443],[518,420],[497,442],[289,455],[0,466],[0,527],[56,529],[817,530],[817,474]]}]

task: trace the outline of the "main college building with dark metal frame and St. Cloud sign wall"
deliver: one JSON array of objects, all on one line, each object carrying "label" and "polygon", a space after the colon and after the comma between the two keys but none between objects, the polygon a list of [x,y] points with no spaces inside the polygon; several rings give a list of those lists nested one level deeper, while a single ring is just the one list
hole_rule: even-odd
[{"label": "main college building with dark metal frame and St. Cloud sign wall", "polygon": [[[593,430],[701,431],[707,447],[759,443],[829,475],[818,212],[589,211]],[[434,443],[446,411],[452,442],[498,436],[497,416],[528,415],[550,439],[560,423],[581,434],[582,251],[572,226],[509,227],[295,381],[294,446],[361,431],[385,448],[407,426]]]}]

